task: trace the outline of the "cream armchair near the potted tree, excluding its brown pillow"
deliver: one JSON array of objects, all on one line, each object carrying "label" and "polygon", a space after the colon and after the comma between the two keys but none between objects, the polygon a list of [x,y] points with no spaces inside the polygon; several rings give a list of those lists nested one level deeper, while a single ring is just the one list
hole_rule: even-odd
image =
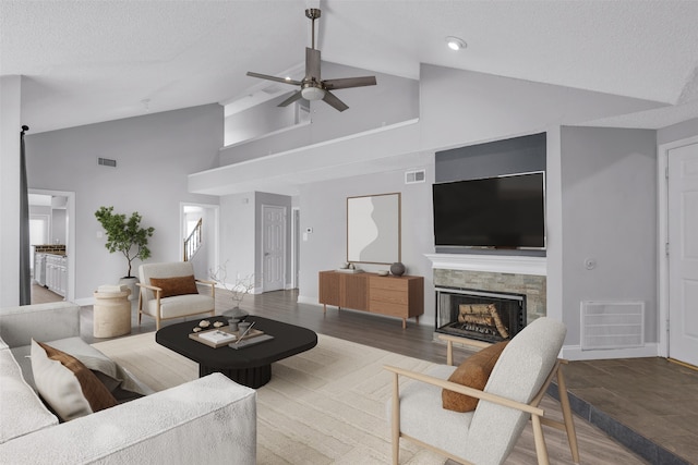
[{"label": "cream armchair near the potted tree, excluding its brown pillow", "polygon": [[155,318],[157,329],[160,321],[172,318],[189,317],[198,314],[216,314],[216,283],[213,281],[196,280],[196,284],[210,286],[210,295],[184,294],[163,297],[160,287],[151,284],[151,278],[179,278],[194,276],[194,267],[191,261],[173,261],[166,264],[143,264],[139,267],[141,287],[139,292],[139,325],[141,317],[147,315]]}]

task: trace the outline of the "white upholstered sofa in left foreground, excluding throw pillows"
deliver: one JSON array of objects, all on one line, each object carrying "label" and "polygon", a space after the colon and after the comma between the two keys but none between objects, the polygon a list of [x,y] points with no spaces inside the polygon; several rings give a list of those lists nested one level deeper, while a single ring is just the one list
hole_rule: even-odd
[{"label": "white upholstered sofa in left foreground, excluding throw pillows", "polygon": [[74,304],[0,309],[0,463],[255,463],[254,390],[214,374],[59,423],[23,375],[32,338],[94,350],[80,340]]}]

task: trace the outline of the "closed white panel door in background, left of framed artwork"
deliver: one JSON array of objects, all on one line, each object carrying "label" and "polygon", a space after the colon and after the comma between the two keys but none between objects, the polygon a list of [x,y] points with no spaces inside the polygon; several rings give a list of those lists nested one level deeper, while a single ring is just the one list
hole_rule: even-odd
[{"label": "closed white panel door in background, left of framed artwork", "polygon": [[262,206],[262,292],[285,289],[286,208]]}]

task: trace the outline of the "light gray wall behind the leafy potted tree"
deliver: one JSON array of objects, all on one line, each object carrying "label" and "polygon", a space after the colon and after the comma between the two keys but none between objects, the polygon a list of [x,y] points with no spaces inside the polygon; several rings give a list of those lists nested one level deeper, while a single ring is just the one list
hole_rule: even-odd
[{"label": "light gray wall behind the leafy potted tree", "polygon": [[[31,135],[31,188],[75,193],[75,299],[127,274],[127,260],[109,254],[94,213],[113,206],[141,225],[155,228],[148,247],[155,261],[181,260],[180,203],[218,204],[190,194],[186,175],[214,167],[222,144],[222,107],[208,105]],[[97,158],[117,160],[117,168]],[[132,274],[137,274],[139,260]]]}]

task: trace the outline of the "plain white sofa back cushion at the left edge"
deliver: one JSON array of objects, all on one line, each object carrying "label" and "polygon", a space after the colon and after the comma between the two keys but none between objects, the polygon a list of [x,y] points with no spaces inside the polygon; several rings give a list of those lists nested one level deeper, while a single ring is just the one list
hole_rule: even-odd
[{"label": "plain white sofa back cushion at the left edge", "polygon": [[0,350],[0,444],[14,438],[58,425],[34,390],[9,350]]}]

